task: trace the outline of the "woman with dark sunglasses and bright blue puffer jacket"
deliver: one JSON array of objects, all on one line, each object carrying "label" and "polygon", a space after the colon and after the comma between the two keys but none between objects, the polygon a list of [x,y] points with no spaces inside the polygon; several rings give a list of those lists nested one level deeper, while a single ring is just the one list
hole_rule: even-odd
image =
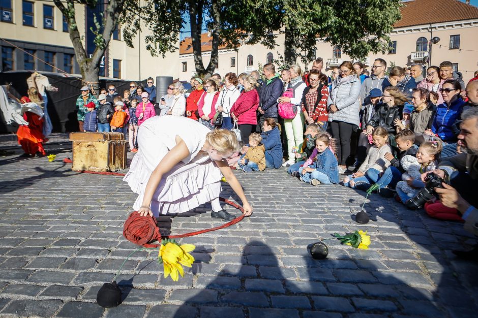
[{"label": "woman with dark sunglasses and bright blue puffer jacket", "polygon": [[440,93],[444,102],[437,106],[432,129],[425,131],[425,134],[436,136],[446,143],[453,143],[457,141],[458,135],[454,123],[460,118],[465,104],[460,96],[461,84],[455,79],[447,79],[443,82]]}]

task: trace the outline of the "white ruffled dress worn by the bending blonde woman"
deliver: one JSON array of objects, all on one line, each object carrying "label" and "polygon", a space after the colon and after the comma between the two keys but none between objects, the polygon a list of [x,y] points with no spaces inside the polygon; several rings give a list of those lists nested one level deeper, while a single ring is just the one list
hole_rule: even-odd
[{"label": "white ruffled dress worn by the bending blonde woman", "polygon": [[219,197],[221,171],[208,155],[198,155],[208,132],[204,125],[182,116],[155,116],[141,124],[139,150],[123,179],[138,194],[135,210],[141,207],[151,173],[176,145],[176,136],[184,140],[190,155],[161,179],[151,203],[154,215],[188,212]]}]

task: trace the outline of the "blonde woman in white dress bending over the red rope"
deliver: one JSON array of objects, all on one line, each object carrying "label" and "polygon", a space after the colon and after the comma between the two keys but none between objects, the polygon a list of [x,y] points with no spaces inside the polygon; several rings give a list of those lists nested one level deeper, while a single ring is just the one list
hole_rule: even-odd
[{"label": "blonde woman in white dress bending over the red rope", "polygon": [[242,200],[244,214],[252,214],[225,161],[241,148],[234,133],[210,131],[182,116],[155,116],[140,126],[138,145],[124,180],[138,194],[133,208],[140,215],[183,213],[211,202],[212,217],[231,220],[234,216],[219,204],[223,175]]}]

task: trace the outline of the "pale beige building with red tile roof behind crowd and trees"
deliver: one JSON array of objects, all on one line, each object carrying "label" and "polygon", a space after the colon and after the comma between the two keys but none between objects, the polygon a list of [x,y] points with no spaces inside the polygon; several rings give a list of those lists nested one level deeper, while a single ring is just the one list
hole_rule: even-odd
[{"label": "pale beige building with red tile roof behind crowd and trees", "polygon": [[[370,66],[375,58],[380,57],[389,66],[404,67],[412,63],[439,65],[440,62],[449,60],[454,64],[455,70],[463,74],[465,82],[478,70],[478,8],[474,6],[457,0],[405,1],[402,19],[394,25],[390,37],[390,52],[370,54],[362,61]],[[434,37],[440,40],[430,47]],[[190,38],[185,39],[180,47],[181,80],[188,80],[195,72],[192,49],[188,45],[190,41]],[[211,37],[204,34],[202,55],[205,66],[211,55],[210,41]],[[279,45],[274,50],[260,44],[241,46],[237,51],[220,49],[217,71],[224,75],[228,72],[239,74],[256,70],[259,64],[264,65],[277,59],[279,54],[284,55],[283,35],[278,37],[277,43]],[[324,59],[325,73],[329,75],[333,67],[339,66],[342,61],[351,60],[341,53],[340,48],[332,47],[321,39],[317,39],[315,49],[316,57]],[[431,61],[428,62],[430,53]],[[311,63],[308,67],[310,66]]]}]

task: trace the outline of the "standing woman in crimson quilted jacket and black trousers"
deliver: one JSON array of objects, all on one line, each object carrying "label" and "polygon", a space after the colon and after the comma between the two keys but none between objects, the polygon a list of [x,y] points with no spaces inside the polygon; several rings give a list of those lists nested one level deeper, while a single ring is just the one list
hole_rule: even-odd
[{"label": "standing woman in crimson quilted jacket and black trousers", "polygon": [[249,142],[249,135],[254,132],[257,125],[256,111],[259,107],[257,86],[256,79],[248,75],[244,79],[244,91],[231,108],[231,117],[234,121],[237,121],[243,143]]}]

